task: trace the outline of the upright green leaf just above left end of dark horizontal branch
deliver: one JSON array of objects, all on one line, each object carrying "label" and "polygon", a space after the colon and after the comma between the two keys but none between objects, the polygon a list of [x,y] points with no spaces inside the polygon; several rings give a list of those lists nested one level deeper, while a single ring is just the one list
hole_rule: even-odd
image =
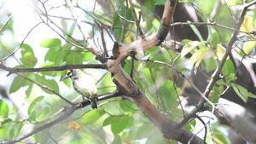
[{"label": "upright green leaf just above left end of dark horizontal branch", "polygon": [[23,63],[23,65],[28,67],[36,66],[38,59],[35,57],[33,49],[27,44],[22,44],[20,49],[22,55],[20,61]]}]

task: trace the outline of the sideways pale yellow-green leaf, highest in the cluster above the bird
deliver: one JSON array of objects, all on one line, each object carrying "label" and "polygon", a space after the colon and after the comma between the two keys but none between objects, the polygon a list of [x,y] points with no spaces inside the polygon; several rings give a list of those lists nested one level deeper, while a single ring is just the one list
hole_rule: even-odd
[{"label": "sideways pale yellow-green leaf, highest in the cluster above the bird", "polygon": [[61,40],[59,38],[47,39],[41,42],[40,46],[43,48],[58,50],[58,49],[61,49]]}]

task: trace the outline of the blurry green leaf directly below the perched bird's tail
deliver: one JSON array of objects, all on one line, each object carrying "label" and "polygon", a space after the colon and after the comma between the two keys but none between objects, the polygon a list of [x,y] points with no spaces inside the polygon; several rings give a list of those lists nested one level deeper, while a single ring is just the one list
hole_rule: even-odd
[{"label": "blurry green leaf directly below the perched bird's tail", "polygon": [[83,116],[83,124],[94,124],[102,115],[105,114],[101,109],[90,111]]}]

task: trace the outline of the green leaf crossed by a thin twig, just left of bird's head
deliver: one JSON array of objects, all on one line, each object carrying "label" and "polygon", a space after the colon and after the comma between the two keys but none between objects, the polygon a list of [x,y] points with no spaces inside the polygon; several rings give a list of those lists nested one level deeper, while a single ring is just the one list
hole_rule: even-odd
[{"label": "green leaf crossed by a thin twig, just left of bird's head", "polygon": [[[43,84],[44,86],[47,86],[50,89],[55,90],[55,92],[59,93],[59,85],[56,83],[56,81],[54,79],[46,79],[46,78],[44,78],[42,76],[39,76],[39,75],[36,75],[36,79],[37,79],[37,82],[39,84]],[[41,89],[43,89],[43,88],[41,88]],[[43,89],[43,90],[44,90],[44,92],[46,92],[48,94],[53,94],[48,89]]]}]

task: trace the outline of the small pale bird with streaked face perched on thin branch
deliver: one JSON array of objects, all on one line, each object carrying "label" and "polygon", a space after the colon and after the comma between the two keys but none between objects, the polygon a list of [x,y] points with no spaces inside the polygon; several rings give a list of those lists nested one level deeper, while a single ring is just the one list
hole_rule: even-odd
[{"label": "small pale bird with streaked face perched on thin branch", "polygon": [[63,79],[71,78],[73,88],[84,97],[88,98],[91,108],[97,108],[96,95],[97,88],[93,83],[93,79],[79,69],[67,70],[67,75]]}]

